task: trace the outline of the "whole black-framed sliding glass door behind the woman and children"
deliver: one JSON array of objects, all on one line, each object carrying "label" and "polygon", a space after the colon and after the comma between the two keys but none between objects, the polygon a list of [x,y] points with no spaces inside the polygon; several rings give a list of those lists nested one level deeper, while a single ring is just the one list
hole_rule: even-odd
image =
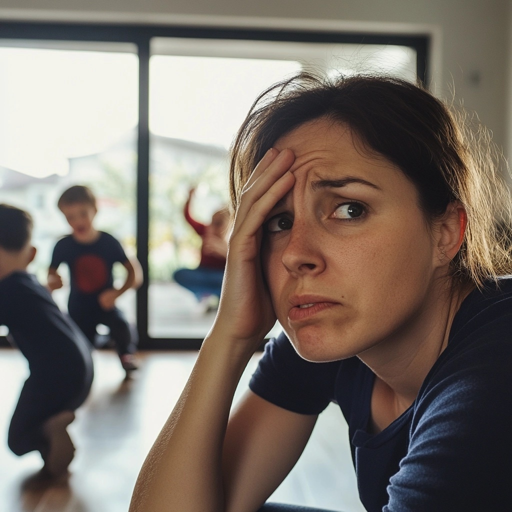
[{"label": "whole black-framed sliding glass door behind the woman and children", "polygon": [[[215,300],[205,306],[175,279],[200,261],[184,206],[194,189],[190,217],[208,224],[226,205],[229,146],[255,97],[300,70],[426,81],[427,46],[420,36],[3,22],[0,201],[34,216],[29,270],[46,282],[69,232],[57,198],[89,185],[97,227],[144,269],[142,287],[119,299],[141,348],[198,347]],[[64,310],[68,290],[54,292]]]}]

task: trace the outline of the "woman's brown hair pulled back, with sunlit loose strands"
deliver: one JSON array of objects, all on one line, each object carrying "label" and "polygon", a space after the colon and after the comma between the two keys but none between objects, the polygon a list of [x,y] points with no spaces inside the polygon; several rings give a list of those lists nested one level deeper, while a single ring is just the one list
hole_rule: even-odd
[{"label": "woman's brown hair pulled back, with sunlit loose strands", "polygon": [[444,102],[423,86],[398,78],[355,75],[331,81],[300,73],[263,92],[231,147],[233,209],[250,173],[275,141],[321,117],[348,125],[365,150],[397,165],[416,186],[429,221],[452,201],[462,203],[468,222],[451,264],[454,278],[481,285],[512,273],[510,197],[490,137],[483,127],[466,130],[461,116]]}]

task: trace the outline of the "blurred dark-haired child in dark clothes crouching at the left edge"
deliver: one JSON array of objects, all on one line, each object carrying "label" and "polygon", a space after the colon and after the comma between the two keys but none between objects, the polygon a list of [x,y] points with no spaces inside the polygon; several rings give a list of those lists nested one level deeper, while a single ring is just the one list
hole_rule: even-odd
[{"label": "blurred dark-haired child in dark clothes crouching at the left edge", "polygon": [[[0,204],[0,324],[27,358],[25,381],[9,427],[16,455],[38,450],[42,474],[67,474],[75,448],[66,430],[89,394],[93,364],[89,344],[53,302],[48,290],[27,273],[34,259],[32,218]],[[4,385],[6,383],[4,382]]]}]

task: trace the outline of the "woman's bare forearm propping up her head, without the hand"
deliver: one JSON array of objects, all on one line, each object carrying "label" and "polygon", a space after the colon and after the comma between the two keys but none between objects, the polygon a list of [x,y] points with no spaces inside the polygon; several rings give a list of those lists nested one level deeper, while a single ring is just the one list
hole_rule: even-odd
[{"label": "woman's bare forearm propping up her head, without the hand", "polygon": [[222,446],[234,392],[251,354],[215,330],[142,466],[130,512],[224,510]]}]

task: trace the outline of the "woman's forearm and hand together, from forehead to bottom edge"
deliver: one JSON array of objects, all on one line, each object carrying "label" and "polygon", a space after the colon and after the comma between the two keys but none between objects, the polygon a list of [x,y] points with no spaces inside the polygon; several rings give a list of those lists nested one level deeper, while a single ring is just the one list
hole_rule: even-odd
[{"label": "woman's forearm and hand together, from forehead to bottom edge", "polygon": [[214,327],[142,466],[130,512],[225,508],[222,453],[233,395],[247,362],[275,323],[261,272],[262,224],[295,181],[288,172],[293,153],[278,153],[268,151],[246,184],[230,234]]}]

